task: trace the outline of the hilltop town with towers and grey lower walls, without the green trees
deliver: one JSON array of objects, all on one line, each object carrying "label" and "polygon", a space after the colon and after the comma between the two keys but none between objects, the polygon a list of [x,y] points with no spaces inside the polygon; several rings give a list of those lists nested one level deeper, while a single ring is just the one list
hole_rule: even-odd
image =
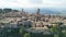
[{"label": "hilltop town with towers and grey lower walls, without the green trees", "polygon": [[56,25],[66,26],[66,18],[61,15],[42,14],[40,9],[35,13],[25,12],[23,9],[19,12],[9,12],[0,14],[0,28],[18,28],[24,26],[24,30],[30,33],[53,34],[50,28]]}]

